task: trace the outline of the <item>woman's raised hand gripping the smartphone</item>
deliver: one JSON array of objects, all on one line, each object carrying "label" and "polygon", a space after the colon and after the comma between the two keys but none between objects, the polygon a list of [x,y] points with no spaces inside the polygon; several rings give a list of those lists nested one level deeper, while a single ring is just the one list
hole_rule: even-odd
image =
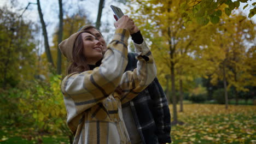
[{"label": "woman's raised hand gripping the smartphone", "polygon": [[134,22],[127,15],[122,16],[117,22],[114,23],[115,28],[127,29],[130,33],[134,29]]}]

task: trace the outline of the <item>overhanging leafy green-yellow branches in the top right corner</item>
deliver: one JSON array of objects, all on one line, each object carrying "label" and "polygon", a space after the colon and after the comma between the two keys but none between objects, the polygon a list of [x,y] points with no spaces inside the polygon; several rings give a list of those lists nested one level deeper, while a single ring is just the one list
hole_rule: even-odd
[{"label": "overhanging leafy green-yellow branches in the top right corner", "polygon": [[186,0],[181,1],[181,13],[186,21],[196,19],[201,25],[207,25],[208,22],[216,24],[223,17],[223,13],[227,16],[240,7],[241,3],[247,3],[243,9],[250,5],[248,17],[251,18],[256,14],[256,2],[248,3],[248,0]]}]

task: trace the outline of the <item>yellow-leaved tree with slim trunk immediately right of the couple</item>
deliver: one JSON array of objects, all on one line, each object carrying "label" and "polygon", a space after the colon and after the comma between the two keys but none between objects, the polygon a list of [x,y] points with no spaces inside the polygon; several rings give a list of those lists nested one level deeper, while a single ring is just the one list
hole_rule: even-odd
[{"label": "yellow-leaved tree with slim trunk immediately right of the couple", "polygon": [[[139,6],[133,7],[135,3]],[[179,65],[182,65],[182,61],[193,60],[193,53],[200,50],[199,47],[194,45],[203,41],[202,38],[205,38],[203,35],[206,32],[206,30],[203,30],[205,27],[194,24],[186,25],[182,15],[179,13],[179,2],[177,1],[134,0],[131,1],[129,8],[144,38],[150,41],[149,44],[152,47],[151,50],[154,53],[158,71],[160,71],[158,73],[158,77],[161,77],[160,81],[167,83],[164,77],[171,77],[172,124],[176,124],[178,123],[176,108],[177,86],[175,85],[177,70]],[[193,63],[184,64],[188,65],[183,65],[183,67],[192,67],[190,64]],[[195,65],[199,67],[200,64]],[[186,68],[181,68],[181,71],[183,71],[182,69],[187,70]]]}]

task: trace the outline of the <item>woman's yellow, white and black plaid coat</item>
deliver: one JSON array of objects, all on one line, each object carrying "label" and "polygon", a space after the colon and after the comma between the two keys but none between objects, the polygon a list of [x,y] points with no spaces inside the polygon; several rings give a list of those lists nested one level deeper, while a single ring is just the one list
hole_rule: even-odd
[{"label": "woman's yellow, white and black plaid coat", "polygon": [[[67,75],[61,84],[73,143],[130,143],[121,104],[143,91],[156,76],[152,53],[136,45],[137,69],[126,71],[129,32],[117,29],[100,67]],[[117,88],[119,87],[119,88]]]}]

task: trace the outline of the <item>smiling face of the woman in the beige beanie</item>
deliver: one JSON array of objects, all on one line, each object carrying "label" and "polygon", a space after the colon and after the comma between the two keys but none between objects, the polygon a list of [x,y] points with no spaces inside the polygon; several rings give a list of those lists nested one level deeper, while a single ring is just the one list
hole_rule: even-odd
[{"label": "smiling face of the woman in the beige beanie", "polygon": [[83,53],[88,64],[95,64],[103,57],[103,45],[101,41],[90,33],[82,33]]}]

